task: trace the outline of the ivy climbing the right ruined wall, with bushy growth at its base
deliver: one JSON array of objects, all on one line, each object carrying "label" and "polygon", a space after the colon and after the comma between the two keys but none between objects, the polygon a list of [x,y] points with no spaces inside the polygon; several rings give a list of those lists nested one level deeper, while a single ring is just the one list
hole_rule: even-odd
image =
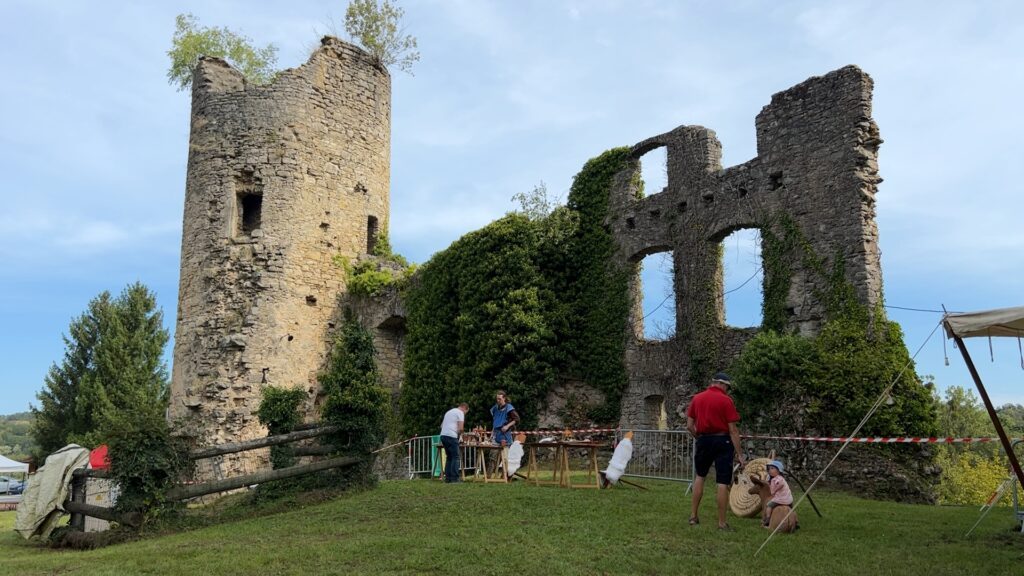
[{"label": "ivy climbing the right ruined wall, with bushy growth at its base", "polygon": [[[857,300],[842,255],[829,262],[814,253],[800,228],[786,217],[769,221],[762,239],[762,332],[730,368],[733,395],[750,431],[845,436],[894,382],[891,402],[862,433],[935,434],[937,407],[913,369],[902,329],[881,308],[869,310]],[[824,280],[825,288],[814,296],[827,321],[813,338],[784,331],[793,262]]]}]

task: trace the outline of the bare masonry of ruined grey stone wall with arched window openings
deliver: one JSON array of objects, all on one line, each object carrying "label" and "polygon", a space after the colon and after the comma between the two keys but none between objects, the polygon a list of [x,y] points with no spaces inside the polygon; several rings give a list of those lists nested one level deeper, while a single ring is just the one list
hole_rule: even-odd
[{"label": "bare masonry of ruined grey stone wall with arched window openings", "polygon": [[[616,263],[673,251],[676,335],[644,340],[637,302],[625,335],[624,426],[650,425],[647,399],[657,397],[667,403],[670,425],[679,425],[689,397],[756,333],[724,322],[720,245],[737,230],[772,225],[785,215],[816,254],[842,255],[861,302],[881,301],[874,193],[882,140],[871,119],[871,85],[865,73],[847,67],[775,94],[757,117],[758,156],[731,168],[722,168],[715,132],[700,126],[680,126],[633,148],[637,162],[616,176],[611,193]],[[632,181],[639,159],[659,147],[667,149],[668,186],[637,200]],[[814,335],[825,320],[815,297],[825,279],[797,259],[791,263],[787,328]],[[638,285],[633,297],[640,297]]]}]

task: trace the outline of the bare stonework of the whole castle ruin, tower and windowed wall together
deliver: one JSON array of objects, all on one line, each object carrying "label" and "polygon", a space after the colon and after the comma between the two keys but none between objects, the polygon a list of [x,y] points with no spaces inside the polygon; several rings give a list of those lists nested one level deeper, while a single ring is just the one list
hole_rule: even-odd
[{"label": "bare stonework of the whole castle ruin, tower and windowed wall together", "polygon": [[[779,92],[757,117],[758,156],[726,169],[715,133],[699,126],[633,148],[636,162],[611,191],[614,264],[672,251],[677,314],[674,338],[643,339],[636,280],[623,425],[656,427],[666,411],[677,424],[677,407],[706,372],[727,365],[756,333],[724,323],[720,246],[736,230],[792,218],[815,251],[844,259],[858,300],[880,302],[881,139],[870,97],[871,80],[855,67]],[[639,159],[659,147],[668,186],[638,200]],[[172,419],[198,425],[200,442],[262,436],[254,412],[264,386],[302,387],[315,401],[346,305],[340,264],[372,253],[387,230],[389,164],[390,77],[362,50],[325,38],[305,65],[267,86],[248,84],[220,59],[200,63],[170,407]],[[820,282],[794,262],[788,328],[817,332]],[[403,319],[400,299],[389,297],[356,312],[397,394]]]}]

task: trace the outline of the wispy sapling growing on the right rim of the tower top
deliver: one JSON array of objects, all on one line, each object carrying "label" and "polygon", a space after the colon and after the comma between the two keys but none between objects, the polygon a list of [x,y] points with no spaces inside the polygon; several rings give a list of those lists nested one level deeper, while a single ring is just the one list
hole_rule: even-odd
[{"label": "wispy sapling growing on the right rim of the tower top", "polygon": [[345,32],[385,68],[395,66],[412,74],[420,52],[416,37],[402,36],[404,13],[391,0],[352,0],[345,10]]}]

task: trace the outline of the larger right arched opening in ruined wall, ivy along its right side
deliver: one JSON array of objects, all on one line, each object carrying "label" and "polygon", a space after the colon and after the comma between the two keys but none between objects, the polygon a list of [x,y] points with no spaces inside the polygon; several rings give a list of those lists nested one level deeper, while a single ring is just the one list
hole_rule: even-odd
[{"label": "larger right arched opening in ruined wall, ivy along its right side", "polygon": [[738,230],[722,241],[725,323],[737,328],[761,326],[764,265],[761,231]]}]

